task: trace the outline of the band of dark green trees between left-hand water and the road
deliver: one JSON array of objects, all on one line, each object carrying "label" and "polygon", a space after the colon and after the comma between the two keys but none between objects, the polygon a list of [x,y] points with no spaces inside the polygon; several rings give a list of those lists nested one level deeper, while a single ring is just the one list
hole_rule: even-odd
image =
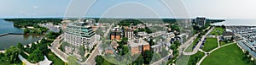
[{"label": "band of dark green trees between left-hand water and the road", "polygon": [[[49,32],[46,35],[47,39],[55,39],[55,37],[59,35],[58,33],[53,33],[53,32]],[[47,39],[42,39],[40,42],[37,42],[37,44],[32,43],[32,46],[26,46],[24,47],[22,44],[18,44],[18,48],[20,49],[20,51],[25,51],[27,53],[29,53],[28,58],[26,58],[29,62],[40,62],[44,60],[44,55],[48,55],[49,53],[49,48],[48,46],[50,45],[50,43],[52,41],[47,40]]]}]

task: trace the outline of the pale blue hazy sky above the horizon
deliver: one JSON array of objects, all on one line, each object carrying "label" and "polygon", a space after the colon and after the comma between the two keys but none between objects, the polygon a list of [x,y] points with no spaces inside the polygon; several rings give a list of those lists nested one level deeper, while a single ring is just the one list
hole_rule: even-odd
[{"label": "pale blue hazy sky above the horizon", "polygon": [[[74,1],[78,2],[77,5]],[[179,14],[185,14],[188,18],[256,18],[255,0],[168,0],[170,3],[166,2],[167,6],[161,0],[97,0],[84,14],[83,7],[89,3],[86,1],[89,0],[73,0],[73,3],[70,0],[1,0],[0,18],[63,17],[72,14],[86,17],[179,18]]]}]

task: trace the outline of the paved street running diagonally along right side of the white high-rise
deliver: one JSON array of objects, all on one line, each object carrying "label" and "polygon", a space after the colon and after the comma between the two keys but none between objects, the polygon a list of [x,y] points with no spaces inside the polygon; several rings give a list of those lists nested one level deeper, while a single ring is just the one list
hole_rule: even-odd
[{"label": "paved street running diagonally along right side of the white high-rise", "polygon": [[[106,37],[109,33],[109,31],[111,30],[113,24],[111,24],[107,30],[107,32],[104,33],[103,37]],[[90,57],[88,57],[86,59],[85,62],[80,62],[81,65],[95,65],[96,64],[96,61],[95,61],[95,57],[98,55],[98,54],[101,54],[101,52],[99,51],[100,49],[100,45],[102,44],[102,41],[99,41],[99,43],[97,44],[96,48],[94,51],[92,51],[92,53],[90,54]]]}]

